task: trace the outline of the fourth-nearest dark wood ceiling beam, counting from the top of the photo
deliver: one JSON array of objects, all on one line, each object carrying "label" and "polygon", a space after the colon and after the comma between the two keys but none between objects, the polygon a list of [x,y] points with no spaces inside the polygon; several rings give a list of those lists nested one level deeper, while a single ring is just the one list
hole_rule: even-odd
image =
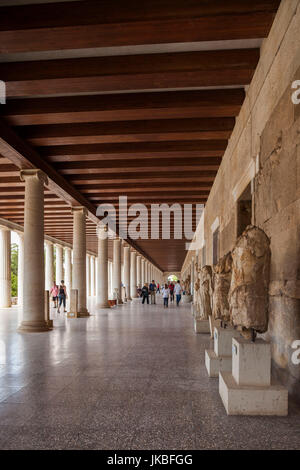
[{"label": "fourth-nearest dark wood ceiling beam, counting from the top of the photo", "polygon": [[34,146],[168,140],[225,140],[235,119],[153,119],[102,123],[18,126],[15,131]]}]

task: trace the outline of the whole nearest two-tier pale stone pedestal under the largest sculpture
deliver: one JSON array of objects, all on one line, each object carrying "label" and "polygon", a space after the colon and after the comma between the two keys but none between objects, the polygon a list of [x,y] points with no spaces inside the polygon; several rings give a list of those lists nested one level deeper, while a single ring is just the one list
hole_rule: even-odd
[{"label": "whole nearest two-tier pale stone pedestal under the largest sculpture", "polygon": [[220,372],[219,393],[228,415],[288,414],[288,391],[271,382],[271,345],[232,339],[232,373]]}]

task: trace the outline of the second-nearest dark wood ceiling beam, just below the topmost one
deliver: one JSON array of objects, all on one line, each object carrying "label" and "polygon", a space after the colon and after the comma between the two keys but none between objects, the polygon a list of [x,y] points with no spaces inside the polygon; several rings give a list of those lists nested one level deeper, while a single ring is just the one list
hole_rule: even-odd
[{"label": "second-nearest dark wood ceiling beam, just below the topmost one", "polygon": [[[7,97],[249,84],[259,49],[0,64]],[[126,73],[124,72],[126,71]]]}]

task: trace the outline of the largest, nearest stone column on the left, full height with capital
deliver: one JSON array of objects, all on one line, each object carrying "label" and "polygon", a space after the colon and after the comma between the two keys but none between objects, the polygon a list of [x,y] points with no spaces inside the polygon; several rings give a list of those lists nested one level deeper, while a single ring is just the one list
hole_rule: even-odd
[{"label": "largest, nearest stone column on the left, full height with capital", "polygon": [[45,321],[44,184],[40,170],[21,170],[25,181],[23,320],[20,332],[49,329]]}]

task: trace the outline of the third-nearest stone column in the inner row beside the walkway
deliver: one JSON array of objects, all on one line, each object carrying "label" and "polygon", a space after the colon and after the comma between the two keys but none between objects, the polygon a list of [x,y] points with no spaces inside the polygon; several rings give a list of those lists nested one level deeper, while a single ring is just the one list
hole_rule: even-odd
[{"label": "third-nearest stone column in the inner row beside the walkway", "polygon": [[98,258],[97,258],[97,306],[100,308],[108,305],[108,236],[107,228],[97,228]]}]

